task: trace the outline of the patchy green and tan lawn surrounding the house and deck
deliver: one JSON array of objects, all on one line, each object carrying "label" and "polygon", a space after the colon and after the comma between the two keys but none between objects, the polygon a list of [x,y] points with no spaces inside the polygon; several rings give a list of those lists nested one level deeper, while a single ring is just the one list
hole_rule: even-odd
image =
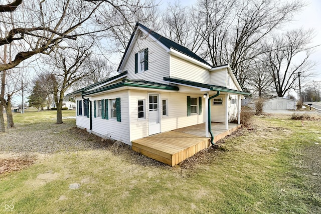
[{"label": "patchy green and tan lawn surrounding the house and deck", "polygon": [[[170,167],[75,129],[74,119],[54,125],[55,111],[14,118],[17,128],[0,134],[2,139],[41,129],[47,138],[37,138],[36,145],[48,135],[57,144],[71,143],[44,152],[29,149],[29,142],[28,152],[20,154],[1,147],[0,158],[31,158],[33,164],[0,174],[0,213],[321,212],[319,182],[313,183],[320,168],[307,161],[318,155],[306,153],[321,151],[320,120],[254,117],[250,129]],[[69,188],[73,183],[79,188]]]}]

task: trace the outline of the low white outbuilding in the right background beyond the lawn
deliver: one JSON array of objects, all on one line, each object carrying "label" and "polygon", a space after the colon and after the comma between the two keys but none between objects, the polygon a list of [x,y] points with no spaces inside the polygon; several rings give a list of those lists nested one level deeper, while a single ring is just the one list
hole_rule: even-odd
[{"label": "low white outbuilding in the right background beyond the lawn", "polygon": [[269,110],[295,110],[296,100],[287,99],[284,97],[276,97],[264,101],[263,111]]}]

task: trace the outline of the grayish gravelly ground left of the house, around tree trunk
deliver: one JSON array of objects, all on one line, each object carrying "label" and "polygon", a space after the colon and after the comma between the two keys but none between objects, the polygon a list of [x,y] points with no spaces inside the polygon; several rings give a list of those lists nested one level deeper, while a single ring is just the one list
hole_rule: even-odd
[{"label": "grayish gravelly ground left of the house, around tree trunk", "polygon": [[103,141],[101,138],[95,135],[88,136],[85,130],[75,127],[74,121],[66,121],[60,125],[40,122],[7,129],[6,133],[0,134],[0,153],[48,154],[62,150],[77,151],[100,147],[99,142]]}]

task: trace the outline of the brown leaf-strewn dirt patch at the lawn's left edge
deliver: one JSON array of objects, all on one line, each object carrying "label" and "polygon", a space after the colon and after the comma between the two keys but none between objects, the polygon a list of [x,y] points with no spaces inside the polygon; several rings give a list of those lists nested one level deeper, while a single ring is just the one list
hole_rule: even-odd
[{"label": "brown leaf-strewn dirt patch at the lawn's left edge", "polygon": [[0,159],[0,174],[22,170],[34,162],[32,157]]}]

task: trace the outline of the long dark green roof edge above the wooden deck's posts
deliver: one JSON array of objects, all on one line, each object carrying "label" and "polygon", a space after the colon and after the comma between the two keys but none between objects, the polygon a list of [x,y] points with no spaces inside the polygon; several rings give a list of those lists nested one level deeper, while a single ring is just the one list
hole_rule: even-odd
[{"label": "long dark green roof edge above the wooden deck's posts", "polygon": [[175,79],[175,78],[170,78],[170,77],[164,77],[164,80],[171,82],[171,83],[184,84],[184,85],[194,86],[194,87],[198,87],[198,88],[204,88],[204,89],[208,89],[211,91],[220,91],[220,92],[228,92],[228,93],[241,94],[241,95],[250,95],[250,93],[243,92],[243,91],[237,91],[237,90],[233,90],[233,89],[228,89],[223,86],[209,85],[209,84],[198,83],[198,82],[182,80],[182,79]]}]

